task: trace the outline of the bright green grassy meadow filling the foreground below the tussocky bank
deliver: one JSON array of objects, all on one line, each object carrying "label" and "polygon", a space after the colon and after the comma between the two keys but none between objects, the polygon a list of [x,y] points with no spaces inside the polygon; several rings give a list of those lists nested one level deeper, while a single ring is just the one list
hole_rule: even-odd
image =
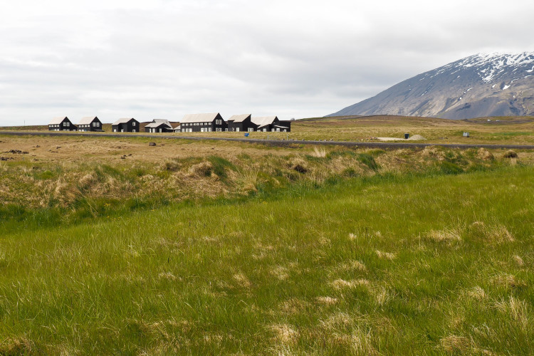
[{"label": "bright green grassy meadow filling the foreground below the tussocky bank", "polygon": [[382,175],[4,234],[0,354],[528,354],[533,177]]}]

